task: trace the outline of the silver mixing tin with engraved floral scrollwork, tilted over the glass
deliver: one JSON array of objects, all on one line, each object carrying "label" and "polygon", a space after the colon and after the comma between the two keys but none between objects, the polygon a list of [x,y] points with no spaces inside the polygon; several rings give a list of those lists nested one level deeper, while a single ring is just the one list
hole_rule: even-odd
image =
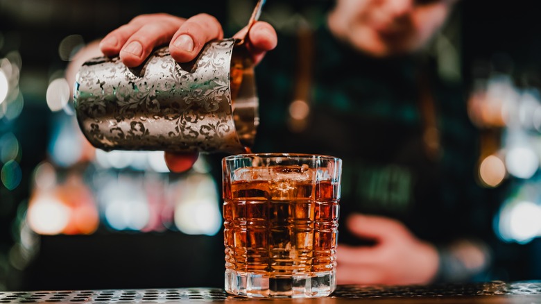
[{"label": "silver mixing tin with engraved floral scrollwork, tilted over the glass", "polygon": [[83,134],[106,151],[245,151],[255,137],[258,99],[253,68],[234,56],[236,45],[210,42],[186,64],[167,47],[135,69],[118,57],[85,62],[74,88]]}]

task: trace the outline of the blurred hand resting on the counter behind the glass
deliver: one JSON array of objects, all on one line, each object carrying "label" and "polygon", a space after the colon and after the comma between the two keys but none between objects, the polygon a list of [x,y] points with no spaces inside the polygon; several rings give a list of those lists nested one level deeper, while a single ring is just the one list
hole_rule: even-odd
[{"label": "blurred hand resting on the counter behind the glass", "polygon": [[417,239],[400,222],[386,217],[354,214],[349,230],[375,246],[338,245],[338,284],[427,284],[438,271],[434,246]]}]

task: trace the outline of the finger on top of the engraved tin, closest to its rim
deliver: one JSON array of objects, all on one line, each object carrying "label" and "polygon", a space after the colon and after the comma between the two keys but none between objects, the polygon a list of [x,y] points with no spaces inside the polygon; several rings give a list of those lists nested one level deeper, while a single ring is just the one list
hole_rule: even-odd
[{"label": "finger on top of the engraved tin, closest to its rim", "polygon": [[223,39],[220,22],[208,14],[195,15],[187,19],[173,35],[169,51],[176,61],[189,62],[196,58],[205,43],[215,39]]}]

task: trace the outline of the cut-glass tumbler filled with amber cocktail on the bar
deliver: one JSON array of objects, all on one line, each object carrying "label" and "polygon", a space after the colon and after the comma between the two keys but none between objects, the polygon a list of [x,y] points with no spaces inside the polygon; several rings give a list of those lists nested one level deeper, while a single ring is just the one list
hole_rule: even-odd
[{"label": "cut-glass tumbler filled with amber cocktail on the bar", "polygon": [[243,154],[223,159],[225,290],[266,298],[336,288],[341,160]]}]

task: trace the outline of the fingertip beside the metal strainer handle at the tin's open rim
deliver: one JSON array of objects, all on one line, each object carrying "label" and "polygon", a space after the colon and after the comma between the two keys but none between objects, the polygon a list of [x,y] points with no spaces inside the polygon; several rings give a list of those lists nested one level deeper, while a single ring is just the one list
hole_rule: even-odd
[{"label": "fingertip beside the metal strainer handle at the tin's open rim", "polygon": [[[242,39],[246,36],[248,28],[243,28],[234,37]],[[256,22],[250,29],[248,37],[248,50],[252,55],[255,64],[259,63],[267,51],[271,51],[278,44],[278,37],[275,29],[267,22]]]}]

